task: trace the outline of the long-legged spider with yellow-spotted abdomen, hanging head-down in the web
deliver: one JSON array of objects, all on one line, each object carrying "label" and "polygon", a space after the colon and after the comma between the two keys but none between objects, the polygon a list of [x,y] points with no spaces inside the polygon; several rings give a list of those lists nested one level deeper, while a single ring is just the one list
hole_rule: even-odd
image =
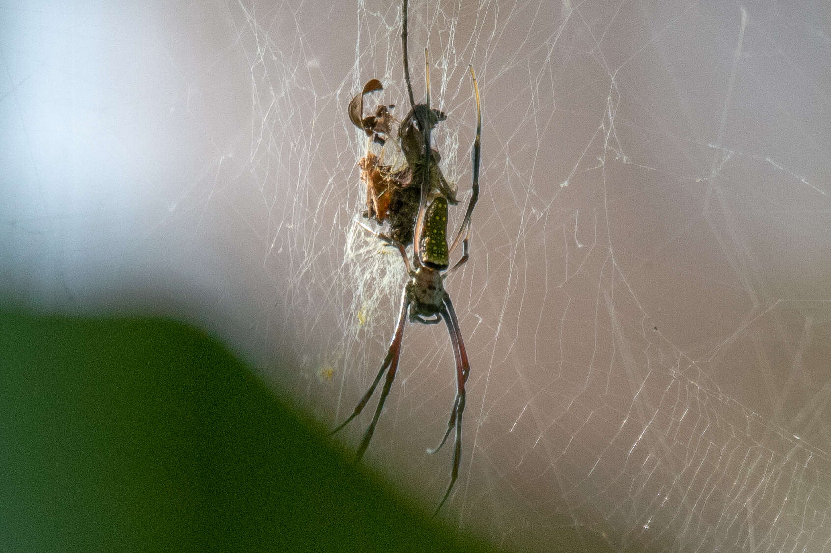
[{"label": "long-legged spider with yellow-spotted abdomen, hanging head-down in the web", "polygon": [[[361,413],[366,403],[371,399],[372,394],[381,382],[381,377],[386,373],[386,380],[381,389],[381,399],[378,400],[378,406],[375,409],[375,414],[372,417],[369,427],[361,438],[361,445],[357,451],[357,461],[363,457],[366,448],[375,432],[378,418],[381,417],[381,410],[384,408],[386,396],[390,393],[390,388],[393,380],[396,378],[396,369],[398,368],[398,360],[401,357],[401,345],[404,339],[404,326],[409,315],[411,322],[418,322],[423,325],[435,325],[440,321],[445,321],[447,330],[450,334],[450,344],[453,347],[453,355],[455,358],[456,369],[456,394],[453,402],[453,407],[450,409],[450,419],[447,422],[447,430],[441,442],[436,448],[428,449],[427,453],[436,453],[445,444],[450,432],[455,428],[455,441],[453,453],[453,465],[450,469],[450,483],[447,486],[444,497],[442,497],[439,507],[436,507],[433,516],[438,514],[441,507],[450,497],[450,491],[453,489],[456,478],[459,476],[459,466],[461,462],[462,453],[462,414],[465,412],[465,381],[470,374],[470,363],[468,362],[467,352],[465,350],[465,342],[462,340],[462,333],[459,326],[459,321],[456,318],[453,303],[450,301],[450,295],[445,291],[445,277],[451,272],[461,267],[467,262],[470,257],[470,220],[476,201],[479,198],[479,159],[480,159],[480,138],[482,134],[482,115],[479,107],[479,87],[476,84],[476,75],[473,66],[469,66],[470,79],[473,86],[474,97],[476,100],[476,137],[473,144],[473,184],[471,185],[470,200],[468,201],[465,218],[462,221],[459,231],[456,232],[453,242],[448,247],[447,243],[447,204],[455,203],[455,197],[452,195],[448,197],[445,195],[445,187],[442,181],[443,176],[440,176],[438,169],[438,152],[430,148],[430,132],[440,120],[445,120],[445,114],[438,110],[430,110],[430,64],[428,61],[427,50],[425,49],[425,101],[423,104],[416,105],[414,100],[411,81],[410,81],[410,66],[407,56],[407,0],[404,0],[403,21],[401,24],[401,46],[404,55],[404,79],[406,81],[407,92],[410,96],[411,111],[401,123],[399,130],[399,139],[401,140],[401,149],[405,152],[407,163],[411,168],[411,179],[418,184],[419,190],[419,204],[416,214],[416,222],[413,228],[413,254],[412,262],[406,254],[406,243],[396,240],[394,236],[387,236],[381,232],[376,232],[371,228],[362,225],[367,231],[379,237],[383,242],[396,247],[401,257],[404,258],[407,275],[410,277],[404,288],[401,296],[401,308],[399,311],[398,321],[396,322],[395,330],[393,331],[390,347],[386,351],[386,356],[381,363],[381,369],[376,374],[369,389],[358,402],[351,415],[332,433],[337,433],[341,428],[345,427],[358,414]],[[369,84],[369,83],[367,83]],[[375,90],[380,90],[381,83],[377,82]],[[366,93],[366,86],[361,96]],[[353,99],[353,102],[356,100]],[[352,102],[350,103],[350,115],[353,123],[356,122],[356,117],[352,117]],[[371,122],[369,126],[364,125],[366,120],[361,120],[361,116],[357,119],[361,120],[359,127],[367,131],[367,135],[381,134],[389,135],[389,127],[384,122],[388,110],[386,107],[383,110],[379,108],[376,112],[376,122]],[[362,100],[361,100],[362,110]],[[360,113],[360,111],[359,111]],[[381,121],[381,123],[378,123]],[[356,123],[357,125],[357,123]],[[367,130],[368,129],[368,130]],[[382,132],[379,132],[381,130]],[[381,140],[386,140],[384,136],[379,136]],[[435,153],[435,154],[434,154]],[[366,160],[365,163],[369,169],[377,169],[379,171],[378,179],[384,177],[391,179],[388,184],[393,188],[407,188],[396,177],[385,169],[386,166],[371,163],[371,160]],[[435,176],[434,176],[435,175]],[[369,186],[371,181],[367,181]],[[407,183],[409,185],[409,183]],[[414,188],[414,187],[413,187]],[[428,205],[428,196],[432,197]],[[368,193],[369,197],[369,193]],[[369,202],[368,202],[369,204]],[[386,212],[394,214],[395,207],[391,203],[386,204]],[[376,211],[379,217],[381,213]],[[386,215],[386,213],[385,213]],[[462,243],[462,256],[453,267],[450,267],[450,254],[455,251],[456,247]],[[448,268],[450,267],[450,268]]]}]

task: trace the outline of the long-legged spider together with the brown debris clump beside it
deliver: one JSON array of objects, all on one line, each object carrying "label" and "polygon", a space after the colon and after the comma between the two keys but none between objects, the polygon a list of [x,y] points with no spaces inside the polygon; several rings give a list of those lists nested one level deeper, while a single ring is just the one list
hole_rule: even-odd
[{"label": "long-legged spider together with the brown debris clump beside it", "polygon": [[[444,438],[434,449],[427,453],[436,453],[445,444],[450,432],[455,428],[455,443],[453,453],[453,467],[450,470],[450,483],[434,516],[450,497],[456,478],[459,476],[459,466],[462,453],[462,414],[465,412],[465,381],[470,373],[465,342],[459,321],[456,318],[450,295],[445,291],[445,277],[461,267],[470,257],[470,219],[476,200],[479,198],[479,158],[480,138],[482,134],[482,115],[479,108],[479,88],[476,85],[476,76],[473,66],[469,66],[470,79],[473,85],[476,100],[476,138],[473,144],[473,184],[471,185],[470,200],[468,200],[465,218],[459,231],[456,232],[450,247],[447,244],[447,206],[455,204],[455,193],[447,183],[439,169],[440,156],[438,151],[430,147],[430,133],[440,121],[446,119],[444,112],[430,109],[430,64],[425,48],[425,101],[417,104],[413,96],[410,82],[410,65],[407,56],[407,0],[404,0],[403,21],[401,23],[401,47],[404,55],[404,80],[407,93],[410,96],[411,110],[401,121],[398,130],[398,147],[405,154],[406,169],[393,170],[390,166],[381,164],[374,154],[369,152],[361,159],[361,179],[367,186],[367,210],[365,218],[372,218],[377,223],[383,223],[389,218],[390,232],[385,234],[373,230],[366,225],[361,226],[380,238],[383,242],[396,247],[404,258],[406,271],[410,277],[401,296],[401,309],[392,335],[389,349],[381,363],[381,369],[376,374],[369,389],[361,398],[352,414],[332,433],[345,427],[353,418],[361,413],[366,403],[375,393],[386,372],[386,380],[381,389],[381,399],[372,417],[369,427],[361,439],[358,447],[357,460],[363,457],[366,448],[375,432],[381,410],[384,408],[386,396],[390,393],[392,381],[396,378],[398,360],[401,357],[401,345],[404,339],[404,326],[407,316],[411,322],[423,325],[435,325],[445,321],[450,333],[450,344],[453,347],[456,368],[456,394],[453,407],[450,409],[450,420]],[[390,110],[381,105],[375,115],[363,117],[363,95],[381,90],[381,82],[373,79],[367,81],[360,94],[356,95],[349,104],[349,115],[352,122],[364,130],[366,135],[379,144],[390,140],[394,119]],[[368,145],[368,144],[367,144]],[[416,203],[417,197],[417,203]],[[406,246],[413,244],[412,262],[407,257]],[[462,256],[453,267],[450,267],[450,254],[459,244],[462,244]],[[450,268],[448,268],[450,267]]]}]

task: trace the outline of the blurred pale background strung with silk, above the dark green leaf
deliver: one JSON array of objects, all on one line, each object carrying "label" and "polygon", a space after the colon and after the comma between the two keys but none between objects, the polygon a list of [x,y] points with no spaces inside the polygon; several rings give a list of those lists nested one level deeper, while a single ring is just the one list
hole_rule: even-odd
[{"label": "blurred pale background strung with silk, above the dark green leaf", "polygon": [[[401,4],[139,3],[0,8],[3,165],[34,183],[0,208],[3,290],[84,310],[138,282],[334,428],[406,281],[356,224],[347,118],[371,78],[366,111],[406,115]],[[823,2],[412,2],[453,229],[468,64],[482,100],[442,518],[513,551],[575,529],[609,551],[831,551],[829,22]],[[365,456],[425,511],[454,374],[445,326],[408,324]],[[356,448],[375,405],[337,438]]]}]

